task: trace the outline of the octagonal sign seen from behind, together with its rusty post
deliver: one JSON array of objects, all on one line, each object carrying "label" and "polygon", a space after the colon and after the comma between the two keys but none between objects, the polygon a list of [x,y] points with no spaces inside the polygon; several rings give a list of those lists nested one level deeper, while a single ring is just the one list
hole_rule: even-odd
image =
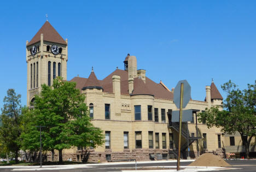
[{"label": "octagonal sign seen from behind, together with its rusty post", "polygon": [[[174,96],[173,96],[173,102],[179,109],[179,143],[178,143],[177,171],[179,170],[179,162],[180,162],[179,160],[181,159],[182,113],[183,113],[183,108],[187,106],[191,98],[190,94],[191,94],[191,87],[188,84],[188,81],[187,80],[179,81],[177,86],[174,89]],[[185,114],[187,117],[191,113],[189,110],[187,110]]]}]

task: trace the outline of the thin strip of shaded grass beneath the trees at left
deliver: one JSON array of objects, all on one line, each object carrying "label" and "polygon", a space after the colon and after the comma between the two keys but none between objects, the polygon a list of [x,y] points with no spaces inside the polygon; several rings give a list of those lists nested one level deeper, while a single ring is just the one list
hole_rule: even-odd
[{"label": "thin strip of shaded grass beneath the trees at left", "polygon": [[[70,165],[70,164],[86,164],[83,162],[72,162],[72,161],[63,161],[62,163],[59,162],[43,162],[42,165]],[[0,166],[15,166],[15,165],[24,165],[24,166],[33,166],[33,165],[40,165],[40,162],[18,162],[15,163],[15,161],[10,161],[9,164],[6,162],[0,162]]]}]

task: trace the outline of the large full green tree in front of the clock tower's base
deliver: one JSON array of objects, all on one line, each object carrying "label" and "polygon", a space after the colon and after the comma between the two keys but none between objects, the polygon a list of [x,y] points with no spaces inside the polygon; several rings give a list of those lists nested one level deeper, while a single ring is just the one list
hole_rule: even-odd
[{"label": "large full green tree in front of the clock tower's base", "polygon": [[[90,141],[94,143],[93,146],[102,144],[102,131],[90,123],[84,100],[84,95],[75,88],[74,82],[63,82],[60,78],[54,80],[52,87],[43,84],[42,92],[35,97],[34,108],[30,112],[33,116],[30,128],[44,126],[43,149],[52,152],[58,150],[59,162],[62,162],[63,149],[90,146]],[[27,138],[31,138],[30,134],[36,134],[32,131],[28,132]]]}]

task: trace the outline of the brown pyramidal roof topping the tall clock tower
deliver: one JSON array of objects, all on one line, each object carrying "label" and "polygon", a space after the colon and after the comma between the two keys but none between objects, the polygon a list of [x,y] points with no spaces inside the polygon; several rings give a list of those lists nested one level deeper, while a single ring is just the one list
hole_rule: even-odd
[{"label": "brown pyramidal roof topping the tall clock tower", "polygon": [[46,40],[46,41],[67,45],[66,41],[55,30],[55,28],[53,26],[51,26],[51,24],[48,21],[46,21],[44,23],[44,25],[39,29],[37,34],[34,35],[34,37],[30,40],[30,42],[27,44],[27,46],[40,41],[40,35],[42,33],[44,34],[44,40]]}]

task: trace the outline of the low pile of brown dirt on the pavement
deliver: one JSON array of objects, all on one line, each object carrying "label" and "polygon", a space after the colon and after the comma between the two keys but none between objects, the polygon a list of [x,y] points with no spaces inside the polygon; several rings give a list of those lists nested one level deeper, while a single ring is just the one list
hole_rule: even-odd
[{"label": "low pile of brown dirt on the pavement", "polygon": [[229,167],[231,165],[212,153],[203,153],[203,155],[196,158],[189,166]]}]

